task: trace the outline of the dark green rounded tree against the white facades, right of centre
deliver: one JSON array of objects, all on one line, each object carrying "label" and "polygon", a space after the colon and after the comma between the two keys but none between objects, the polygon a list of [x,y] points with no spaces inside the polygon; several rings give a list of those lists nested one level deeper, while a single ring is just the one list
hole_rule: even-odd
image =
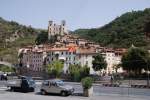
[{"label": "dark green rounded tree against the white facades, right of centre", "polygon": [[94,56],[94,60],[92,61],[93,69],[95,71],[101,71],[102,69],[106,69],[107,63],[104,60],[101,54]]}]

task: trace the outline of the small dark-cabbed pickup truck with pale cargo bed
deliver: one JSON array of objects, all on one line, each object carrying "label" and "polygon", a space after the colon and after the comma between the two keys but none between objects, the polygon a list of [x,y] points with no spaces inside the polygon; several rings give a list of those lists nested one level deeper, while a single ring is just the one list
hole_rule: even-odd
[{"label": "small dark-cabbed pickup truck with pale cargo bed", "polygon": [[31,77],[21,76],[17,79],[8,80],[7,87],[10,87],[11,91],[33,92],[35,81]]}]

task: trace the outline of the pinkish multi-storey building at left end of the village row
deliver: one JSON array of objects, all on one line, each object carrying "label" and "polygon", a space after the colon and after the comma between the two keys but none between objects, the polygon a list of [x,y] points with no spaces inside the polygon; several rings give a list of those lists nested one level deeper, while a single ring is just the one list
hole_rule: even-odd
[{"label": "pinkish multi-storey building at left end of the village row", "polygon": [[43,71],[44,52],[39,49],[22,48],[18,52],[23,75],[40,76]]}]

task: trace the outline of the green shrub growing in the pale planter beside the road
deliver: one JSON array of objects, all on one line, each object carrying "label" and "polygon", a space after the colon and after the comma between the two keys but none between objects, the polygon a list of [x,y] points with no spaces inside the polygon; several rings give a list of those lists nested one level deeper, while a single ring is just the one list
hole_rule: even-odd
[{"label": "green shrub growing in the pale planter beside the road", "polygon": [[84,89],[90,89],[92,87],[93,79],[91,77],[85,77],[82,79],[82,86]]}]

